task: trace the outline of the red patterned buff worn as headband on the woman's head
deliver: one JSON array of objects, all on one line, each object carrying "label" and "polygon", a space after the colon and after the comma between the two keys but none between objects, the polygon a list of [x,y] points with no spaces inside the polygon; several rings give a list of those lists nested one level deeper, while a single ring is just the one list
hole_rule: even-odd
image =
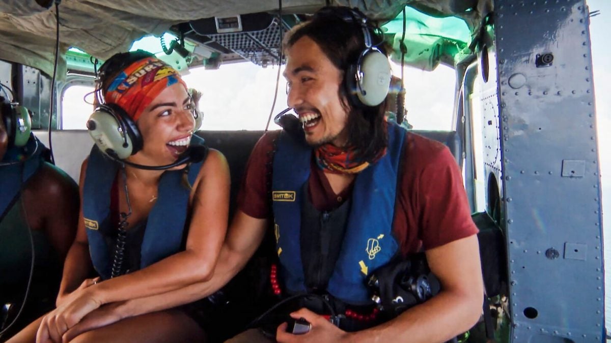
[{"label": "red patterned buff worn as headband on the woman's head", "polygon": [[187,88],[177,70],[155,57],[147,57],[132,63],[117,75],[104,99],[106,103],[121,106],[136,121],[159,93],[177,82]]}]

